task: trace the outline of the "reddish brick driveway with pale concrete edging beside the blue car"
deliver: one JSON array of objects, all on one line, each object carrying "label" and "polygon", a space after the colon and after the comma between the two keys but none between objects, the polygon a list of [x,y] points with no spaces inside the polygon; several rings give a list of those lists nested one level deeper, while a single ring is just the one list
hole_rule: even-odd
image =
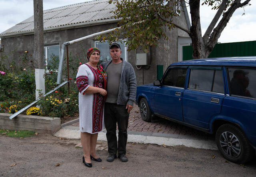
[{"label": "reddish brick driveway with pale concrete edging beside the blue car", "polygon": [[[75,123],[62,126],[62,129],[58,131],[55,136],[79,139],[78,119]],[[106,141],[106,129],[98,134],[98,140]],[[152,143],[168,146],[185,145],[194,148],[217,149],[214,136],[208,133],[166,119],[159,118],[152,122],[143,121],[140,117],[137,105],[134,105],[134,109],[132,109],[129,117],[128,142]]]}]

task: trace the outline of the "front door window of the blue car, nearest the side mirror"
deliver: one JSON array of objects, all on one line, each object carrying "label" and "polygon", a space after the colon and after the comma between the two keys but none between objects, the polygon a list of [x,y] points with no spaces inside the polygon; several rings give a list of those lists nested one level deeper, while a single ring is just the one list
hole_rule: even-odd
[{"label": "front door window of the blue car, nearest the side mirror", "polygon": [[169,68],[164,75],[162,85],[184,88],[186,74],[186,68]]}]

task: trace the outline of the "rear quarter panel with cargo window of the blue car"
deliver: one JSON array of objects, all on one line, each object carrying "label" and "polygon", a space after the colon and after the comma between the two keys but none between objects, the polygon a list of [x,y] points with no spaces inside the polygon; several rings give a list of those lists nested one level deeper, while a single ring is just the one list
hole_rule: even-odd
[{"label": "rear quarter panel with cargo window of the blue car", "polygon": [[226,71],[229,95],[223,100],[222,115],[232,117],[256,144],[256,68],[227,67]]}]

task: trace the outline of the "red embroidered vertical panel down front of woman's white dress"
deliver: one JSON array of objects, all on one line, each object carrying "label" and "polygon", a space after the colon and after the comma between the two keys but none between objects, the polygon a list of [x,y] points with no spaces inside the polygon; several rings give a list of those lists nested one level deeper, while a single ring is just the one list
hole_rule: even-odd
[{"label": "red embroidered vertical panel down front of woman's white dress", "polygon": [[[98,71],[86,64],[93,74],[93,86],[103,88],[103,76]],[[103,96],[100,93],[93,94],[92,102],[92,133],[96,133],[102,130],[103,124]]]}]

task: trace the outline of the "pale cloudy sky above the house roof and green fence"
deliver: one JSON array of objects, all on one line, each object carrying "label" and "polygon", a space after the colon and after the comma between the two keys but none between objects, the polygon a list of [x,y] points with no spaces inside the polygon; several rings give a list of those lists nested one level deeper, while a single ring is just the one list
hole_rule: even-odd
[{"label": "pale cloudy sky above the house roof and green fence", "polygon": [[[47,10],[85,1],[89,0],[43,0],[43,8]],[[251,6],[240,8],[234,12],[218,42],[256,40],[256,2],[251,0],[250,3]],[[242,15],[244,12],[245,14]],[[0,0],[0,33],[33,16],[33,13],[33,0]],[[206,31],[215,13],[216,10],[211,10],[206,5],[200,8],[202,34]]]}]

